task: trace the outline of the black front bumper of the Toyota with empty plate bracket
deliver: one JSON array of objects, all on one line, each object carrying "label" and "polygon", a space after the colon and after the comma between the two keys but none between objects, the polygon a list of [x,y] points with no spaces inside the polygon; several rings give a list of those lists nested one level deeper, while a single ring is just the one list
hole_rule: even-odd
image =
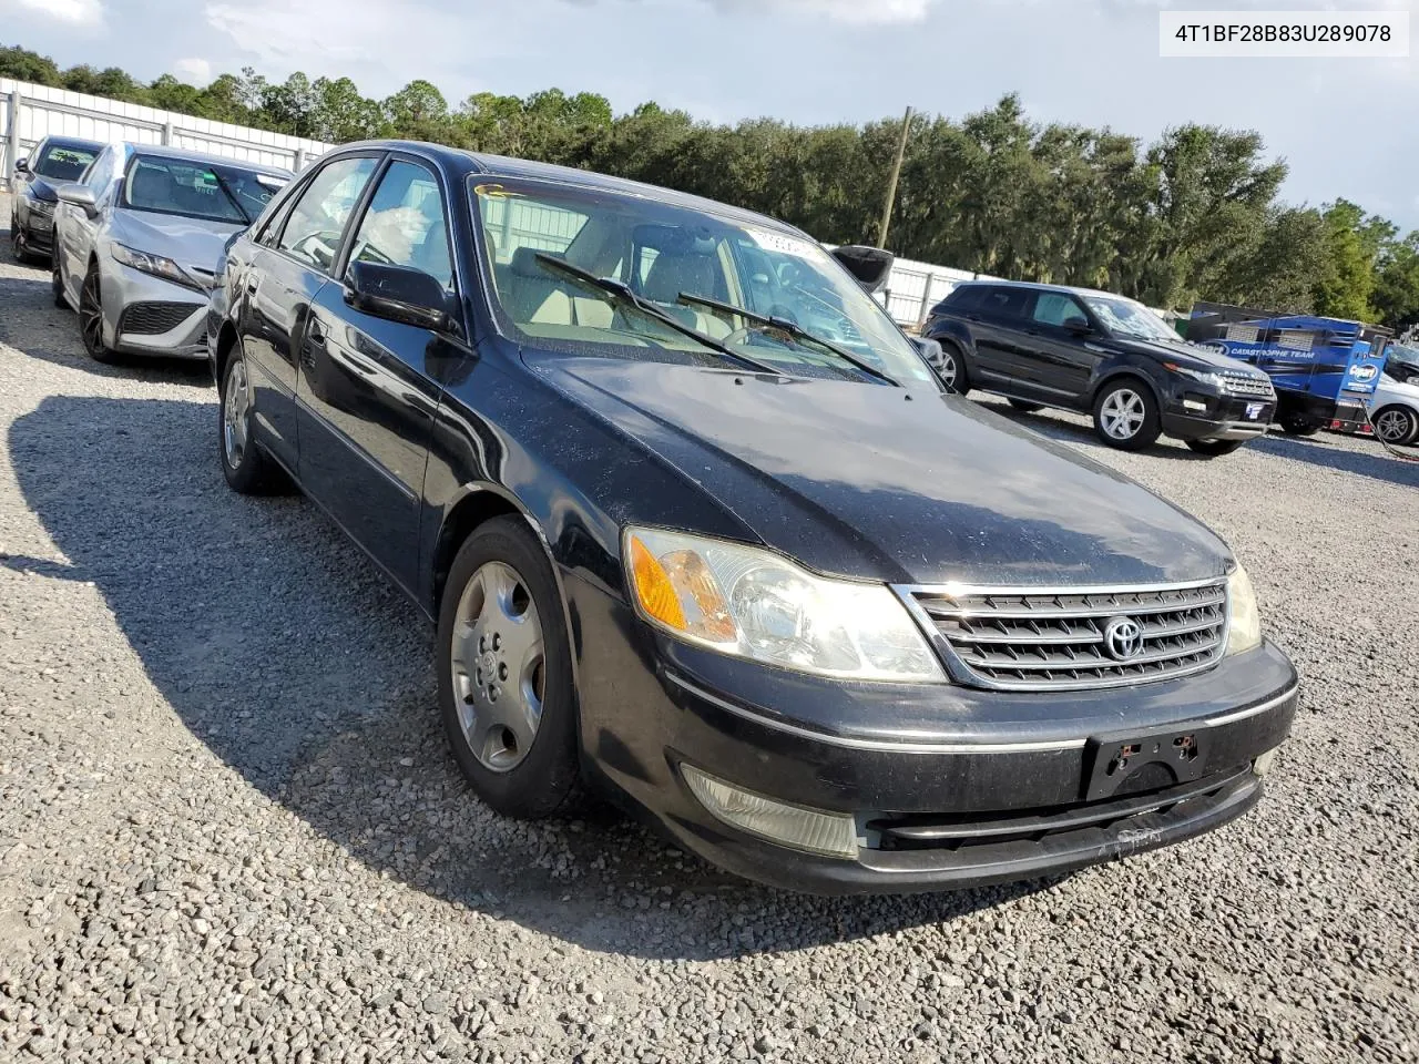
[{"label": "black front bumper of the Toyota with empty plate bracket", "polygon": [[[1270,644],[1208,672],[1112,691],[840,684],[653,636],[610,596],[568,584],[592,775],[685,848],[789,890],[975,887],[1193,837],[1256,803],[1252,765],[1284,741],[1296,712],[1296,671]],[[1200,777],[1084,802],[1091,736],[1172,726],[1202,736]],[[685,763],[778,802],[854,816],[856,860],[721,821],[690,792]]]}]

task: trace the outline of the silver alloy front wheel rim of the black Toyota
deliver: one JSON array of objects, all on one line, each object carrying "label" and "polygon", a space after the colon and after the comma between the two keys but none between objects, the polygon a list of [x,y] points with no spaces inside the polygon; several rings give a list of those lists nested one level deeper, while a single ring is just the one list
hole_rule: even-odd
[{"label": "silver alloy front wheel rim of the black Toyota", "polygon": [[542,722],[546,648],[532,593],[505,562],[468,580],[454,614],[451,665],[458,725],[490,772],[528,756]]}]

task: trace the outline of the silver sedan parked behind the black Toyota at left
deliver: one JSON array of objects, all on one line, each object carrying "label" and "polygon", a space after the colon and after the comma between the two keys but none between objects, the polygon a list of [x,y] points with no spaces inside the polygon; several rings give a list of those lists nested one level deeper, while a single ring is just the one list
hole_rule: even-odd
[{"label": "silver sedan parked behind the black Toyota at left", "polygon": [[289,179],[197,152],[118,143],[60,186],[54,302],[78,311],[89,356],[206,358],[207,292],[223,247]]}]

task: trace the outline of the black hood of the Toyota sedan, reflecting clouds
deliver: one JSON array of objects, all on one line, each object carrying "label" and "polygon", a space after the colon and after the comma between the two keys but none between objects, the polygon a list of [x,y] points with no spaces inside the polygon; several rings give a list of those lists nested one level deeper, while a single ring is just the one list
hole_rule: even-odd
[{"label": "black hood of the Toyota sedan, reflecting clouds", "polygon": [[893,583],[1076,586],[1223,575],[1226,545],[1134,481],[931,390],[539,358],[761,542]]}]

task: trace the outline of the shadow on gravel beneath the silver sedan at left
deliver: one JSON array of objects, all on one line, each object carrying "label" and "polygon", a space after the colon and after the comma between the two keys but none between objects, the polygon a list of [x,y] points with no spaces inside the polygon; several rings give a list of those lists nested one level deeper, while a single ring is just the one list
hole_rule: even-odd
[{"label": "shadow on gravel beneath the silver sedan at left", "polygon": [[[0,241],[4,240],[0,237]],[[14,270],[26,270],[14,262],[10,265]],[[6,308],[0,315],[0,343],[31,359],[84,370],[98,377],[131,377],[163,384],[211,387],[211,370],[201,359],[136,355],[122,355],[109,363],[91,359],[79,339],[78,315],[54,305],[47,272],[35,272],[33,277],[0,277],[0,306]],[[35,343],[35,336],[43,336],[43,340]]]}]

